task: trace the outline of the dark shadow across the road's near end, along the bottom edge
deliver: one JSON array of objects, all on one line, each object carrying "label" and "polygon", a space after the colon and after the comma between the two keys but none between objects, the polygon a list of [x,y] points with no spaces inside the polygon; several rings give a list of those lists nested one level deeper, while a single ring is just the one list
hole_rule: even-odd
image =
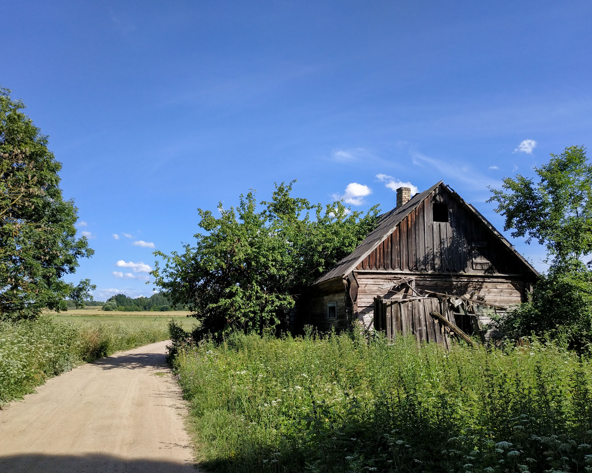
[{"label": "dark shadow across the road's near end, along the bottom edge", "polygon": [[195,473],[195,468],[189,463],[130,460],[101,453],[80,456],[39,453],[0,456],[0,471],[7,473]]}]

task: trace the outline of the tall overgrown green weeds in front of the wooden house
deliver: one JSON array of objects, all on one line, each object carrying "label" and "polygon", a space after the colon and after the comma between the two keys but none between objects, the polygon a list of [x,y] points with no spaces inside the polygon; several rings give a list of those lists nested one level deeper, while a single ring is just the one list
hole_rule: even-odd
[{"label": "tall overgrown green weeds in front of the wooden house", "polygon": [[173,366],[212,471],[591,470],[592,368],[552,343],[234,335]]}]

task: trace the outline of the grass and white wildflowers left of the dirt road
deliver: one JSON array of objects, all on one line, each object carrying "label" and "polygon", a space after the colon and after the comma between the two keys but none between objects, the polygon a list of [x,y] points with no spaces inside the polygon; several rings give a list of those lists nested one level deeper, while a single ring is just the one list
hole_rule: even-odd
[{"label": "grass and white wildflowers left of the dirt road", "polygon": [[168,339],[168,320],[144,317],[0,322],[0,405],[82,362]]}]

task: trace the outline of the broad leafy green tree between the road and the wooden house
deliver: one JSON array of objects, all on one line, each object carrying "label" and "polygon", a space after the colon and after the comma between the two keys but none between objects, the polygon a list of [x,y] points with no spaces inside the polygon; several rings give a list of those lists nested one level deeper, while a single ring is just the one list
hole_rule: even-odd
[{"label": "broad leafy green tree between the road and the wooden house", "polygon": [[276,184],[272,200],[255,191],[219,217],[198,209],[203,233],[181,254],[154,254],[152,276],[172,302],[188,306],[211,333],[278,328],[298,296],[354,250],[374,228],[378,206],[351,212],[342,202],[313,205],[292,197],[292,181]]}]

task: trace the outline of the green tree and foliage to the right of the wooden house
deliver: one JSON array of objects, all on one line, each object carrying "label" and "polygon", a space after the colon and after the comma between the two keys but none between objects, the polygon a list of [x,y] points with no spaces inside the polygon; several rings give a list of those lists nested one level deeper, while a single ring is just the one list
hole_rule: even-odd
[{"label": "green tree and foliage to the right of the wooden house", "polygon": [[581,259],[592,252],[592,165],[585,148],[571,146],[535,167],[540,180],[506,177],[492,189],[504,229],[545,245],[551,266],[535,284],[532,300],[498,321],[510,338],[566,336],[578,349],[592,347],[592,273]]}]

